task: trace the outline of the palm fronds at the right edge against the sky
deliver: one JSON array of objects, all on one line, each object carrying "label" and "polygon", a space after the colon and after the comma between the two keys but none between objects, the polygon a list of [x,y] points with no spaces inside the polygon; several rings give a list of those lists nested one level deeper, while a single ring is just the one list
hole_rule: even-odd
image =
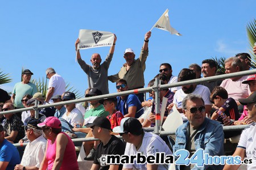
[{"label": "palm fronds at the right edge against the sky", "polygon": [[256,20],[254,19],[253,22],[250,22],[249,24],[246,25],[246,31],[247,31],[247,37],[249,40],[249,44],[250,44],[250,53],[251,53],[251,66],[253,68],[256,67],[256,56],[253,53],[253,46],[255,46],[255,42],[256,42]]}]

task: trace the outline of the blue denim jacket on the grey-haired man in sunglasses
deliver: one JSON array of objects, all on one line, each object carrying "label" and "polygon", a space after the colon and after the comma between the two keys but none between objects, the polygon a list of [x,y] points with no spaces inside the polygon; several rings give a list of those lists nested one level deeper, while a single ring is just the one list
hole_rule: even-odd
[{"label": "blue denim jacket on the grey-haired man in sunglasses", "polygon": [[[176,130],[176,142],[174,152],[180,149],[185,149],[188,141],[189,121],[179,126]],[[224,155],[224,133],[222,125],[214,120],[205,118],[203,124],[195,135],[195,148],[203,148],[204,154],[210,156]],[[180,165],[176,165],[176,169],[180,169]],[[204,167],[193,167],[192,169],[223,169],[223,165],[204,165]]]}]

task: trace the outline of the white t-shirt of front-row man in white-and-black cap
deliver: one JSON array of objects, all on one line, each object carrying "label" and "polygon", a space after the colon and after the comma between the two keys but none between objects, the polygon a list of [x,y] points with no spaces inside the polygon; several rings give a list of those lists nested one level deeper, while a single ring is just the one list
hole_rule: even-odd
[{"label": "white t-shirt of front-row man in white-and-black cap", "polygon": [[[125,154],[123,155],[137,155],[137,152],[141,152],[142,155],[155,155],[156,152],[165,152],[166,155],[172,155],[170,148],[166,145],[166,142],[163,141],[156,134],[145,132],[142,145],[139,150],[136,150],[136,147],[131,143],[126,143]],[[135,169],[147,169],[146,164],[124,164],[123,168],[135,168]],[[167,164],[159,164],[158,169],[168,169]]]}]

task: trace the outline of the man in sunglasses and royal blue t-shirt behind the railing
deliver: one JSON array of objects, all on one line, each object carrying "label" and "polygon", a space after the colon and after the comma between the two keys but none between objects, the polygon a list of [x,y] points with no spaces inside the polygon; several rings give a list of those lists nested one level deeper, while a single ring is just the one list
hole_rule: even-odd
[{"label": "man in sunglasses and royal blue t-shirt behind the railing", "polygon": [[[117,92],[123,92],[129,89],[125,79],[118,80],[116,84]],[[117,109],[124,117],[139,118],[144,112],[141,101],[139,101],[138,97],[134,94],[118,96]]]}]

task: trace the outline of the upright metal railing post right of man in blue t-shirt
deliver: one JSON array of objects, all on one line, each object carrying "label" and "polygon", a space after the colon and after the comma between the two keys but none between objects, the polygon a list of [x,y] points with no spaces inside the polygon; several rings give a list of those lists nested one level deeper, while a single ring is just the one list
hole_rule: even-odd
[{"label": "upright metal railing post right of man in blue t-shirt", "polygon": [[159,78],[155,78],[155,84],[154,84],[153,90],[155,91],[155,133],[159,134],[159,126],[160,126]]}]

